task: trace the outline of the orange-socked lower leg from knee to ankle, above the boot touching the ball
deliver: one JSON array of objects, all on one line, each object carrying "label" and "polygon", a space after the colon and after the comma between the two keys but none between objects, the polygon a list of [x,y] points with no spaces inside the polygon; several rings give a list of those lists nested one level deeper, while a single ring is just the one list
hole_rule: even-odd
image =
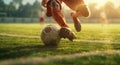
[{"label": "orange-socked lower leg from knee to ankle, above the boot touching the ball", "polygon": [[54,20],[61,26],[61,27],[68,27],[66,20],[61,13],[61,4],[57,1],[51,2],[51,13]]}]

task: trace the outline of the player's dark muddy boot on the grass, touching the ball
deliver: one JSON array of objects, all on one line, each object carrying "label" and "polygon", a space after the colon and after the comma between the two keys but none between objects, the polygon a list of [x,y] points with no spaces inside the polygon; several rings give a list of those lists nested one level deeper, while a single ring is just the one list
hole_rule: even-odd
[{"label": "player's dark muddy boot on the grass, touching the ball", "polygon": [[67,27],[61,28],[59,35],[61,38],[68,38],[70,41],[73,41],[76,38],[74,32],[72,32],[70,28]]}]

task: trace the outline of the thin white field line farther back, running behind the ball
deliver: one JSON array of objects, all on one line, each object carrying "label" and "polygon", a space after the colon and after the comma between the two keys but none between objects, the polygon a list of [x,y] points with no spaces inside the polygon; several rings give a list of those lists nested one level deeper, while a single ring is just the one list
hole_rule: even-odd
[{"label": "thin white field line farther back, running behind the ball", "polygon": [[[4,33],[0,33],[0,36],[21,37],[21,38],[40,38],[40,36],[27,36],[27,35],[4,34]],[[88,43],[120,44],[120,42],[111,42],[111,41],[104,41],[104,40],[80,40],[80,39],[75,39],[74,41],[88,42]]]}]

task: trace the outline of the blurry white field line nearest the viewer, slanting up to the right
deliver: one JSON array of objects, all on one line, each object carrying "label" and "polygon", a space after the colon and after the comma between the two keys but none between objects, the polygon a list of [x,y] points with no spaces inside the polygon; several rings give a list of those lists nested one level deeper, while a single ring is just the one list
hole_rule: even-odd
[{"label": "blurry white field line nearest the viewer, slanting up to the right", "polygon": [[56,56],[49,56],[49,57],[33,57],[33,58],[20,58],[20,59],[12,59],[12,60],[4,60],[0,62],[0,65],[35,65],[36,63],[45,63],[54,60],[62,60],[62,59],[73,59],[73,58],[81,58],[86,56],[96,56],[96,55],[113,55],[119,54],[119,50],[106,50],[106,51],[90,51],[90,52],[82,52],[76,54],[69,54],[69,55],[56,55]]}]

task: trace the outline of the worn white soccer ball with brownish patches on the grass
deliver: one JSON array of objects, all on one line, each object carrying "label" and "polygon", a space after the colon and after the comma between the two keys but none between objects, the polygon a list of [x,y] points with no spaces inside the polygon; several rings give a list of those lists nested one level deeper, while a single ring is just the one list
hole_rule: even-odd
[{"label": "worn white soccer ball with brownish patches on the grass", "polygon": [[45,45],[58,45],[60,39],[59,29],[55,25],[47,25],[41,31],[41,40]]}]

